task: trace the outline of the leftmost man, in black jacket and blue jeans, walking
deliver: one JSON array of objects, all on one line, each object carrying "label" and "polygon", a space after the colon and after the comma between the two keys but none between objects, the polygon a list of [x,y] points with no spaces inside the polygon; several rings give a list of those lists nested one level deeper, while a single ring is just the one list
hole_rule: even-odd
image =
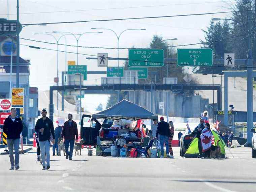
[{"label": "leftmost man, in black jacket and blue jeans, walking", "polygon": [[20,134],[23,129],[21,118],[16,116],[16,109],[11,108],[11,115],[5,119],[3,125],[3,131],[7,135],[7,145],[9,150],[9,157],[11,162],[10,170],[14,169],[14,157],[13,157],[13,146],[15,152],[15,169],[19,169],[19,145],[20,145]]}]

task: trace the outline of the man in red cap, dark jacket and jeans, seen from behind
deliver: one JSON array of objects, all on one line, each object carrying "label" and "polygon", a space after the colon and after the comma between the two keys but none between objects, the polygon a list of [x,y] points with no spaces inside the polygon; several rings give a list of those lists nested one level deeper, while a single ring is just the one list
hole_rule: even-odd
[{"label": "man in red cap, dark jacket and jeans, seen from behind", "polygon": [[164,143],[166,148],[166,156],[170,158],[169,155],[169,146],[168,139],[170,135],[170,126],[167,122],[164,121],[164,117],[160,117],[160,122],[157,125],[156,139],[159,134],[159,140],[161,145],[161,157],[164,158]]}]

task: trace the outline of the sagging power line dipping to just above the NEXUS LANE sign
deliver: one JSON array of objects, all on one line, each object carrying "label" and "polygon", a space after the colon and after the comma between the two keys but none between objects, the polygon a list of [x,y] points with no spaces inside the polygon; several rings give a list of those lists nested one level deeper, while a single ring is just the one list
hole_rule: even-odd
[{"label": "sagging power line dipping to just above the NEXUS LANE sign", "polygon": [[[238,37],[243,37],[243,36],[247,36],[250,34],[253,34],[254,32],[251,33],[247,33],[247,34],[242,34],[242,35],[235,35],[235,36],[231,36],[231,37],[227,37],[227,38],[222,38],[222,39],[217,39],[215,41],[205,41],[205,42],[199,42],[199,43],[191,43],[191,44],[183,44],[183,45],[172,45],[172,46],[165,46],[165,47],[183,47],[183,46],[190,46],[190,45],[199,45],[199,44],[207,44],[207,43],[212,43],[212,42],[219,42],[219,41],[224,41],[224,40],[228,40],[228,39],[233,39],[233,38],[238,38]],[[0,33],[0,35],[5,35]],[[15,38],[15,36],[12,35],[5,35],[8,37],[13,37]],[[81,45],[69,45],[69,44],[59,44],[59,43],[52,43],[52,42],[47,42],[47,41],[38,41],[38,40],[34,40],[34,39],[27,39],[27,38],[22,38],[20,37],[20,39],[23,40],[28,40],[28,41],[34,41],[34,42],[39,42],[39,43],[47,43],[47,44],[54,44],[54,45],[63,45],[63,46],[70,46],[70,47],[81,47],[81,48],[91,48],[91,49],[111,49],[111,50],[117,50],[117,49],[121,49],[121,50],[128,50],[128,49],[162,49],[162,47],[139,47],[139,48],[130,48],[130,47],[121,47],[121,48],[114,48],[114,47],[93,47],[93,46],[81,46]]]}]

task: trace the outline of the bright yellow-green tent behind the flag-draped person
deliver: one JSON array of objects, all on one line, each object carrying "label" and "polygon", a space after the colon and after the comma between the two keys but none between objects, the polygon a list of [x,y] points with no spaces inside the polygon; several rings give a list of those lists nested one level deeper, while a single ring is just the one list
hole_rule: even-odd
[{"label": "bright yellow-green tent behind the flag-draped person", "polygon": [[[220,146],[220,149],[221,149],[221,156],[225,157],[225,142],[221,139],[221,137],[218,135],[218,133],[216,133],[214,130],[212,130],[212,133],[214,135],[215,143],[217,143],[217,141],[219,140],[218,145]],[[191,141],[184,157],[196,157],[198,155],[199,155],[198,138],[194,138]]]}]

